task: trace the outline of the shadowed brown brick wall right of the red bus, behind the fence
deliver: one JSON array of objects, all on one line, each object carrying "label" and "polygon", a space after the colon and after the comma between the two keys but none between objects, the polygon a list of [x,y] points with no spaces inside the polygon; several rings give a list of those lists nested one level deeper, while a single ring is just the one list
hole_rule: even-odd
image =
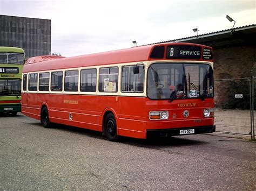
[{"label": "shadowed brown brick wall right of the red bus, behind the fence", "polygon": [[[214,90],[215,106],[223,105],[236,107],[238,103],[250,103],[249,82],[240,79],[256,76],[255,47],[253,45],[214,48]],[[219,81],[221,80],[221,81]],[[243,98],[234,98],[235,94],[243,94]],[[235,102],[235,103],[234,103]]]}]

